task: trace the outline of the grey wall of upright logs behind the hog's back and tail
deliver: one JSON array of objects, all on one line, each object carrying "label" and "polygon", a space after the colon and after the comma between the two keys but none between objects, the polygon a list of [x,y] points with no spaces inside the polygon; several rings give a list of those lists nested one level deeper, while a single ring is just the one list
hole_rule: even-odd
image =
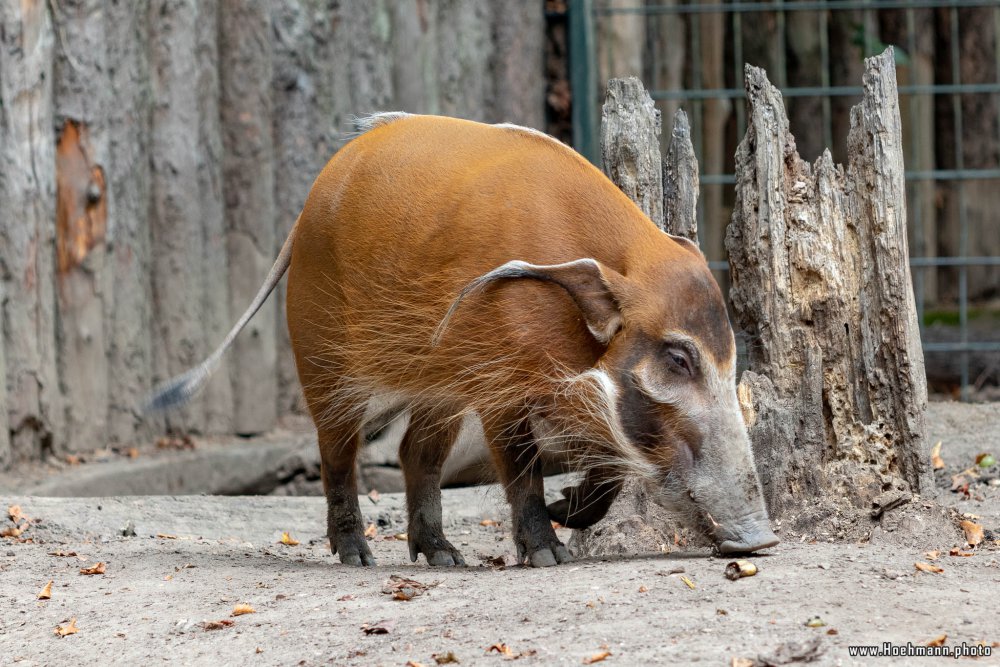
[{"label": "grey wall of upright logs behind the hog's back and tail", "polygon": [[543,6],[0,2],[0,467],[301,410],[280,288],[190,405],[137,406],[246,308],[354,116],[543,129]]}]

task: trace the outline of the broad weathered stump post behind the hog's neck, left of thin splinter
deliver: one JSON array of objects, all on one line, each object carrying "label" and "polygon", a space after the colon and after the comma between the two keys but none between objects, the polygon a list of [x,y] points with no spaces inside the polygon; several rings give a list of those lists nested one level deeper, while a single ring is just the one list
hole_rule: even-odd
[{"label": "broad weathered stump post behind the hog's neck, left of thin splinter", "polygon": [[660,125],[660,110],[639,79],[608,81],[601,115],[604,173],[663,229]]}]

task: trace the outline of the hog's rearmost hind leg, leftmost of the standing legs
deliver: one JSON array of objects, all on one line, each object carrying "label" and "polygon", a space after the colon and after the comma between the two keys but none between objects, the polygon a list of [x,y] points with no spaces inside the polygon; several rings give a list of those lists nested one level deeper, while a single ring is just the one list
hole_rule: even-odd
[{"label": "hog's rearmost hind leg, leftmost of the standing legs", "polygon": [[[353,421],[353,420],[352,420]],[[326,492],[327,535],[330,551],[340,555],[344,565],[375,565],[368,548],[354,462],[361,436],[356,424],[318,429],[323,489]]]}]

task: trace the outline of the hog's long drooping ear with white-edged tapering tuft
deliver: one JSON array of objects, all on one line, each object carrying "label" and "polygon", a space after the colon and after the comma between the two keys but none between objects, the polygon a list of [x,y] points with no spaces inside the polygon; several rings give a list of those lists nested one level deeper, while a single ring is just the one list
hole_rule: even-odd
[{"label": "hog's long drooping ear with white-edged tapering tuft", "polygon": [[482,292],[498,280],[525,278],[555,283],[566,290],[583,313],[590,333],[600,342],[607,343],[621,328],[622,315],[615,297],[615,287],[622,285],[624,278],[617,271],[590,258],[548,265],[528,264],[515,259],[479,276],[462,288],[434,332],[431,344],[437,345],[462,299]]}]

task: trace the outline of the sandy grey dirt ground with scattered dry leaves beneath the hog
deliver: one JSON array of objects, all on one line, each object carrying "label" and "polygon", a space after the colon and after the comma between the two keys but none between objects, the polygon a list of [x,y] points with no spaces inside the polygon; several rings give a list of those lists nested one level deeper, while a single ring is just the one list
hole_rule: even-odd
[{"label": "sandy grey dirt ground with scattered dry leaves beneath the hog", "polygon": [[[409,562],[394,539],[406,529],[398,494],[361,499],[377,531],[378,566],[365,570],[329,554],[319,498],[0,494],[0,512],[19,505],[31,519],[0,540],[0,663],[579,665],[609,653],[600,664],[953,664],[848,648],[942,635],[949,647],[1000,642],[998,468],[967,475],[968,494],[950,490],[977,454],[1000,456],[1000,405],[932,406],[928,436],[942,441],[947,467],[935,498],[912,504],[972,515],[986,529],[977,548],[899,543],[889,520],[860,542],[782,535],[751,559],[756,576],[737,581],[723,575],[729,559],[673,546],[516,566],[496,487],[445,492],[446,532],[470,563],[455,570]],[[283,531],[300,543],[280,544]],[[97,562],[103,574],[79,573]],[[419,594],[395,599],[393,575],[428,588],[404,583],[402,597]],[[50,580],[51,599],[39,600]],[[239,604],[254,613],[233,616]],[[71,619],[78,632],[59,637]],[[998,651],[977,664],[1000,664]]]}]

